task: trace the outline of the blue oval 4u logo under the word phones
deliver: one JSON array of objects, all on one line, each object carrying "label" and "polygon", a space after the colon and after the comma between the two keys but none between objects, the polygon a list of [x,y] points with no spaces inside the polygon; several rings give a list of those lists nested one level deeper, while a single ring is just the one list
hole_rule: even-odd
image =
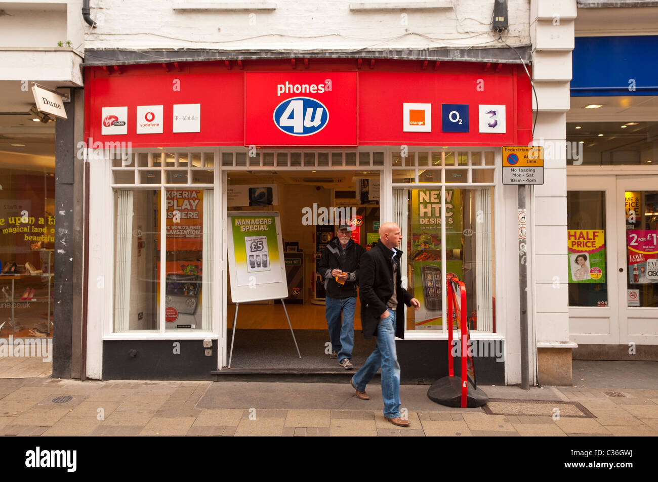
[{"label": "blue oval 4u logo under the word phones", "polygon": [[290,135],[312,135],[320,132],[329,122],[324,104],[311,97],[286,99],[274,109],[274,124]]}]

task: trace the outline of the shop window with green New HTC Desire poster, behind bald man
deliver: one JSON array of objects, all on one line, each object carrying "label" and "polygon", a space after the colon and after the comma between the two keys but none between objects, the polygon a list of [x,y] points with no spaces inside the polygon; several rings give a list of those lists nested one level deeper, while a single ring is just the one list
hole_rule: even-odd
[{"label": "shop window with green New HTC Desire poster, behind bald man", "polygon": [[[445,278],[454,274],[467,288],[470,329],[492,333],[495,331],[493,188],[444,187],[443,192],[442,203],[442,187],[393,189],[393,216],[406,240],[402,249],[407,289],[420,301],[419,310],[407,310],[406,329],[445,331]],[[442,224],[445,224],[445,239]]]}]

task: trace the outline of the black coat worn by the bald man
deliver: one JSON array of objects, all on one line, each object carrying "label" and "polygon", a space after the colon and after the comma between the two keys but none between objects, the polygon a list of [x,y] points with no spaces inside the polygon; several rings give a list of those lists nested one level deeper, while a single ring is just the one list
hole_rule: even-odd
[{"label": "black coat worn by the bald man", "polygon": [[[402,287],[402,271],[400,256],[402,251],[395,249],[397,260],[397,276],[395,277],[395,289],[397,293],[397,310],[395,311],[395,336],[405,337],[405,305],[411,306],[413,296]],[[361,298],[361,325],[363,337],[372,338],[377,333],[380,316],[386,310],[386,302],[393,295],[393,264],[391,262],[392,250],[384,246],[382,241],[366,251],[361,256],[359,266],[359,297]]]}]

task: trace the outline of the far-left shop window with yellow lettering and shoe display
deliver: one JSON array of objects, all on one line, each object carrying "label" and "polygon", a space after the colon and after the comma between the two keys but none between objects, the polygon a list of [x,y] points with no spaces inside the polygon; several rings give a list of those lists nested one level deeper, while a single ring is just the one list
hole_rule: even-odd
[{"label": "far-left shop window with yellow lettering and shoe display", "polygon": [[[3,153],[3,162],[9,161],[11,155]],[[16,157],[14,162],[26,162],[25,158],[30,157]],[[47,157],[44,156],[43,159],[49,162]],[[53,336],[54,158],[49,163],[52,166],[30,166],[29,170],[23,170],[18,164],[11,164],[11,161],[2,165],[0,338],[4,339],[3,342],[6,342],[9,336],[35,339],[48,339]],[[11,344],[11,341],[9,343]],[[11,349],[10,345],[9,350]],[[16,358],[15,361],[18,362],[19,359]]]}]

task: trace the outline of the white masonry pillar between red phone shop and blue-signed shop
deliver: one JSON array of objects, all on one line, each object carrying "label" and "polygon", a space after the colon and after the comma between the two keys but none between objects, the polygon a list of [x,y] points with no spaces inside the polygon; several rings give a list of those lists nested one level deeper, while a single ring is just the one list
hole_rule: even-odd
[{"label": "white masonry pillar between red phone shop and blue-signed shop", "polygon": [[[537,99],[534,140],[550,144],[566,137],[570,108],[571,51],[574,45],[576,0],[532,0],[530,35]],[[553,147],[551,146],[551,147]],[[555,149],[551,149],[555,152]],[[567,161],[563,155],[544,156],[544,185],[532,187],[530,249],[534,269],[530,304],[536,346],[569,342],[567,277]]]}]

